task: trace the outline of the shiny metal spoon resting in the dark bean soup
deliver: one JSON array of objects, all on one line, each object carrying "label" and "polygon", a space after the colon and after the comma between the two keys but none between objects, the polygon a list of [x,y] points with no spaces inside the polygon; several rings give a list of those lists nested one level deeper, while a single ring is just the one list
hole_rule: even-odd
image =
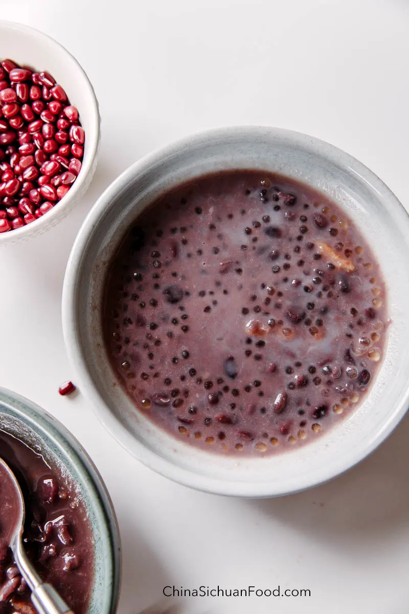
[{"label": "shiny metal spoon resting in the dark bean soup", "polygon": [[0,476],[7,483],[10,494],[13,497],[13,507],[15,508],[13,518],[15,522],[9,532],[9,545],[13,551],[14,560],[31,589],[31,601],[39,614],[74,614],[69,606],[59,596],[52,585],[44,583],[36,570],[31,565],[23,547],[23,530],[26,516],[26,508],[23,493],[16,479],[16,476],[0,458]]}]

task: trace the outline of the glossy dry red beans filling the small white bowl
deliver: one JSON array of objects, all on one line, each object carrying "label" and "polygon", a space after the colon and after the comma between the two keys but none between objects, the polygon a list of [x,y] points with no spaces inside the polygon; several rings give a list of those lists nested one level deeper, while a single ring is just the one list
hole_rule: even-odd
[{"label": "glossy dry red beans filling the small white bowl", "polygon": [[34,222],[80,173],[78,109],[47,71],[0,61],[0,233]]}]

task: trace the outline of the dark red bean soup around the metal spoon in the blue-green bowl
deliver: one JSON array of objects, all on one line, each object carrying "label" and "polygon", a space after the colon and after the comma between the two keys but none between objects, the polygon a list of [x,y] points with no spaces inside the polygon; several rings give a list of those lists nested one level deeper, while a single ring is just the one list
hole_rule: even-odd
[{"label": "dark red bean soup around the metal spoon in the blue-green bowl", "polygon": [[[85,614],[94,581],[94,540],[80,495],[58,468],[50,467],[40,454],[2,430],[0,456],[12,468],[23,492],[24,543],[32,564],[75,614]],[[15,522],[10,509],[16,511],[17,505],[10,500],[7,476],[0,472],[0,612],[36,614],[8,547]]]}]

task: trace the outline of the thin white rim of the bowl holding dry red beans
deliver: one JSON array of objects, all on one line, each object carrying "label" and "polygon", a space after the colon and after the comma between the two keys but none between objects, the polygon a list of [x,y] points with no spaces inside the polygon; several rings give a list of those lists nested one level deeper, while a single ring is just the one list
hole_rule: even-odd
[{"label": "thin white rim of the bowl holding dry red beans", "polygon": [[77,58],[75,58],[74,55],[72,55],[72,53],[69,52],[66,47],[64,47],[64,45],[56,41],[52,36],[45,34],[37,28],[32,28],[31,26],[27,26],[23,23],[18,23],[18,21],[0,19],[0,32],[2,29],[19,31],[23,34],[35,36],[44,44],[58,47],[64,53],[64,55],[68,56],[75,70],[78,72],[78,75],[80,75],[82,78],[83,86],[86,87],[89,96],[90,109],[92,109],[91,123],[95,137],[93,141],[87,141],[87,160],[85,164],[83,164],[72,188],[65,196],[63,196],[63,198],[61,198],[60,201],[58,201],[58,206],[51,209],[51,211],[47,211],[47,215],[39,217],[35,220],[35,222],[31,222],[21,228],[16,228],[15,230],[11,230],[9,232],[0,233],[0,247],[6,244],[28,239],[31,236],[39,235],[66,217],[66,215],[72,210],[72,208],[74,208],[75,204],[78,203],[80,197],[83,196],[83,193],[85,193],[86,189],[88,188],[88,181],[90,181],[95,170],[97,152],[101,141],[101,116],[99,113],[99,104],[93,85],[91,84],[88,75]]}]

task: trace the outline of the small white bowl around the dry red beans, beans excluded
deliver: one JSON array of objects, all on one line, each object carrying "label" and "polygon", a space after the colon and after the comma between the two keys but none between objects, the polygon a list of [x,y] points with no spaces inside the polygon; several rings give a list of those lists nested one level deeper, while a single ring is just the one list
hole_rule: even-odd
[{"label": "small white bowl around the dry red beans, beans excluded", "polygon": [[82,66],[62,45],[46,34],[12,21],[0,20],[0,60],[10,58],[52,74],[77,107],[85,130],[85,149],[80,174],[69,192],[44,216],[17,230],[0,233],[0,246],[39,235],[60,222],[78,203],[93,177],[100,139],[97,99]]}]

